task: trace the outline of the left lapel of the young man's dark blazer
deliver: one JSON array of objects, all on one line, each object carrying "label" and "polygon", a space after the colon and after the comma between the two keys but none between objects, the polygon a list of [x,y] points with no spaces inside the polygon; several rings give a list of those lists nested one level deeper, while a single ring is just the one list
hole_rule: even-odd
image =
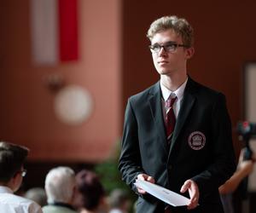
[{"label": "left lapel of the young man's dark blazer", "polygon": [[160,142],[166,151],[167,141],[166,141],[166,129],[163,119],[162,103],[161,103],[161,92],[160,83],[155,83],[153,88],[149,90],[148,103],[152,116],[154,118],[154,123],[156,127],[157,134],[160,137]]}]

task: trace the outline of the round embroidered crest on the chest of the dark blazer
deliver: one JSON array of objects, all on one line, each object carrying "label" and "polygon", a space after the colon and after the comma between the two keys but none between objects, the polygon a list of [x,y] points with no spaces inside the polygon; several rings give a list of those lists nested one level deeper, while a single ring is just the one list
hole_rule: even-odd
[{"label": "round embroidered crest on the chest of the dark blazer", "polygon": [[204,135],[201,131],[192,132],[188,139],[189,147],[194,150],[200,150],[205,147],[206,141],[206,135]]}]

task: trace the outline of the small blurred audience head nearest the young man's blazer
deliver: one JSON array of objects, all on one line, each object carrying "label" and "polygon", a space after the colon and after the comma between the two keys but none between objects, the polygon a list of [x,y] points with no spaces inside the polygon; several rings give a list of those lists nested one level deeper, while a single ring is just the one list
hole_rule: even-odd
[{"label": "small blurred audience head nearest the young man's blazer", "polygon": [[131,200],[128,194],[122,189],[114,189],[108,197],[109,213],[128,213],[131,207]]}]

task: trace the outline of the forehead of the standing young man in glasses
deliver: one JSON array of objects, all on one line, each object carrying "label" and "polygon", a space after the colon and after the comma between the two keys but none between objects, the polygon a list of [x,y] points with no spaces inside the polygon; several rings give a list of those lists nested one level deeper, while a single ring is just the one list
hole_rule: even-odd
[{"label": "forehead of the standing young man in glasses", "polygon": [[151,43],[166,43],[166,42],[176,42],[182,43],[183,39],[181,36],[177,35],[172,29],[166,31],[160,31],[155,33],[151,40]]}]

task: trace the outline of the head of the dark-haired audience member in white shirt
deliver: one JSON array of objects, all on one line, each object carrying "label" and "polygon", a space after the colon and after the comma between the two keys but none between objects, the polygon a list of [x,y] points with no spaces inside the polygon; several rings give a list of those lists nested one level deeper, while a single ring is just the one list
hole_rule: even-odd
[{"label": "head of the dark-haired audience member in white shirt", "polygon": [[0,142],[0,182],[9,184],[9,181],[15,178],[16,191],[22,181],[23,164],[29,150],[26,147],[21,147],[9,142]]}]

